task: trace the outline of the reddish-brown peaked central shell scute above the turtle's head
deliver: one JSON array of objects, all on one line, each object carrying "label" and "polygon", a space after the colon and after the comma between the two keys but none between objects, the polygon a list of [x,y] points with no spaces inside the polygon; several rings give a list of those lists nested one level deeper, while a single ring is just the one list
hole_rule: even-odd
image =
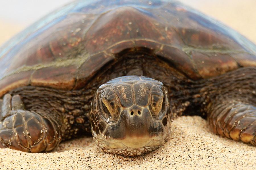
[{"label": "reddish-brown peaked central shell scute above the turtle's head", "polygon": [[92,54],[124,40],[184,44],[174,29],[166,31],[165,25],[133,7],[120,7],[102,15],[86,33],[85,39],[85,48]]}]

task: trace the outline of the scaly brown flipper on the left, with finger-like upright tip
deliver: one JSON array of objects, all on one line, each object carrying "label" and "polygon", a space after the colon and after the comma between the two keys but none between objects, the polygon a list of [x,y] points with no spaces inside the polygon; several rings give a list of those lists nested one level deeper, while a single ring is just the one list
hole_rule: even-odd
[{"label": "scaly brown flipper on the left, with finger-like upright tip", "polygon": [[24,152],[50,151],[61,141],[59,125],[43,110],[26,111],[19,95],[0,100],[0,147]]}]

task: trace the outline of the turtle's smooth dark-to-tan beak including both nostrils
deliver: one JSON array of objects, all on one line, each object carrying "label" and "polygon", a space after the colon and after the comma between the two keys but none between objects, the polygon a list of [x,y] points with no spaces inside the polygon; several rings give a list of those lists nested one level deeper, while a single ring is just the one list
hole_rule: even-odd
[{"label": "turtle's smooth dark-to-tan beak including both nostrils", "polygon": [[133,106],[121,112],[119,121],[109,126],[106,137],[110,148],[144,148],[164,143],[164,127],[147,108]]}]

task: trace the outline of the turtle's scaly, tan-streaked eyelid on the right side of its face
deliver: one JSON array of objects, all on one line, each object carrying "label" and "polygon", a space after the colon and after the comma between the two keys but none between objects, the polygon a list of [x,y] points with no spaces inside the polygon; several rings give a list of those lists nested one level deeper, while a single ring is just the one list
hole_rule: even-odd
[{"label": "turtle's scaly, tan-streaked eyelid on the right side of its face", "polygon": [[158,116],[161,109],[162,109],[162,104],[164,100],[164,94],[161,90],[161,88],[154,86],[151,91],[150,95],[150,105],[152,108],[153,113]]}]

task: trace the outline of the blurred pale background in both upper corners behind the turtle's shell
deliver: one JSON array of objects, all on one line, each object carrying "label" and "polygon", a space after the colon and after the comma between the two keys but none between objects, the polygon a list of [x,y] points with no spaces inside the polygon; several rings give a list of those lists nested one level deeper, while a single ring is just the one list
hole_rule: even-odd
[{"label": "blurred pale background in both upper corners behind the turtle's shell", "polygon": [[[0,45],[36,20],[71,1],[0,0]],[[180,1],[220,20],[256,44],[256,0]]]}]

